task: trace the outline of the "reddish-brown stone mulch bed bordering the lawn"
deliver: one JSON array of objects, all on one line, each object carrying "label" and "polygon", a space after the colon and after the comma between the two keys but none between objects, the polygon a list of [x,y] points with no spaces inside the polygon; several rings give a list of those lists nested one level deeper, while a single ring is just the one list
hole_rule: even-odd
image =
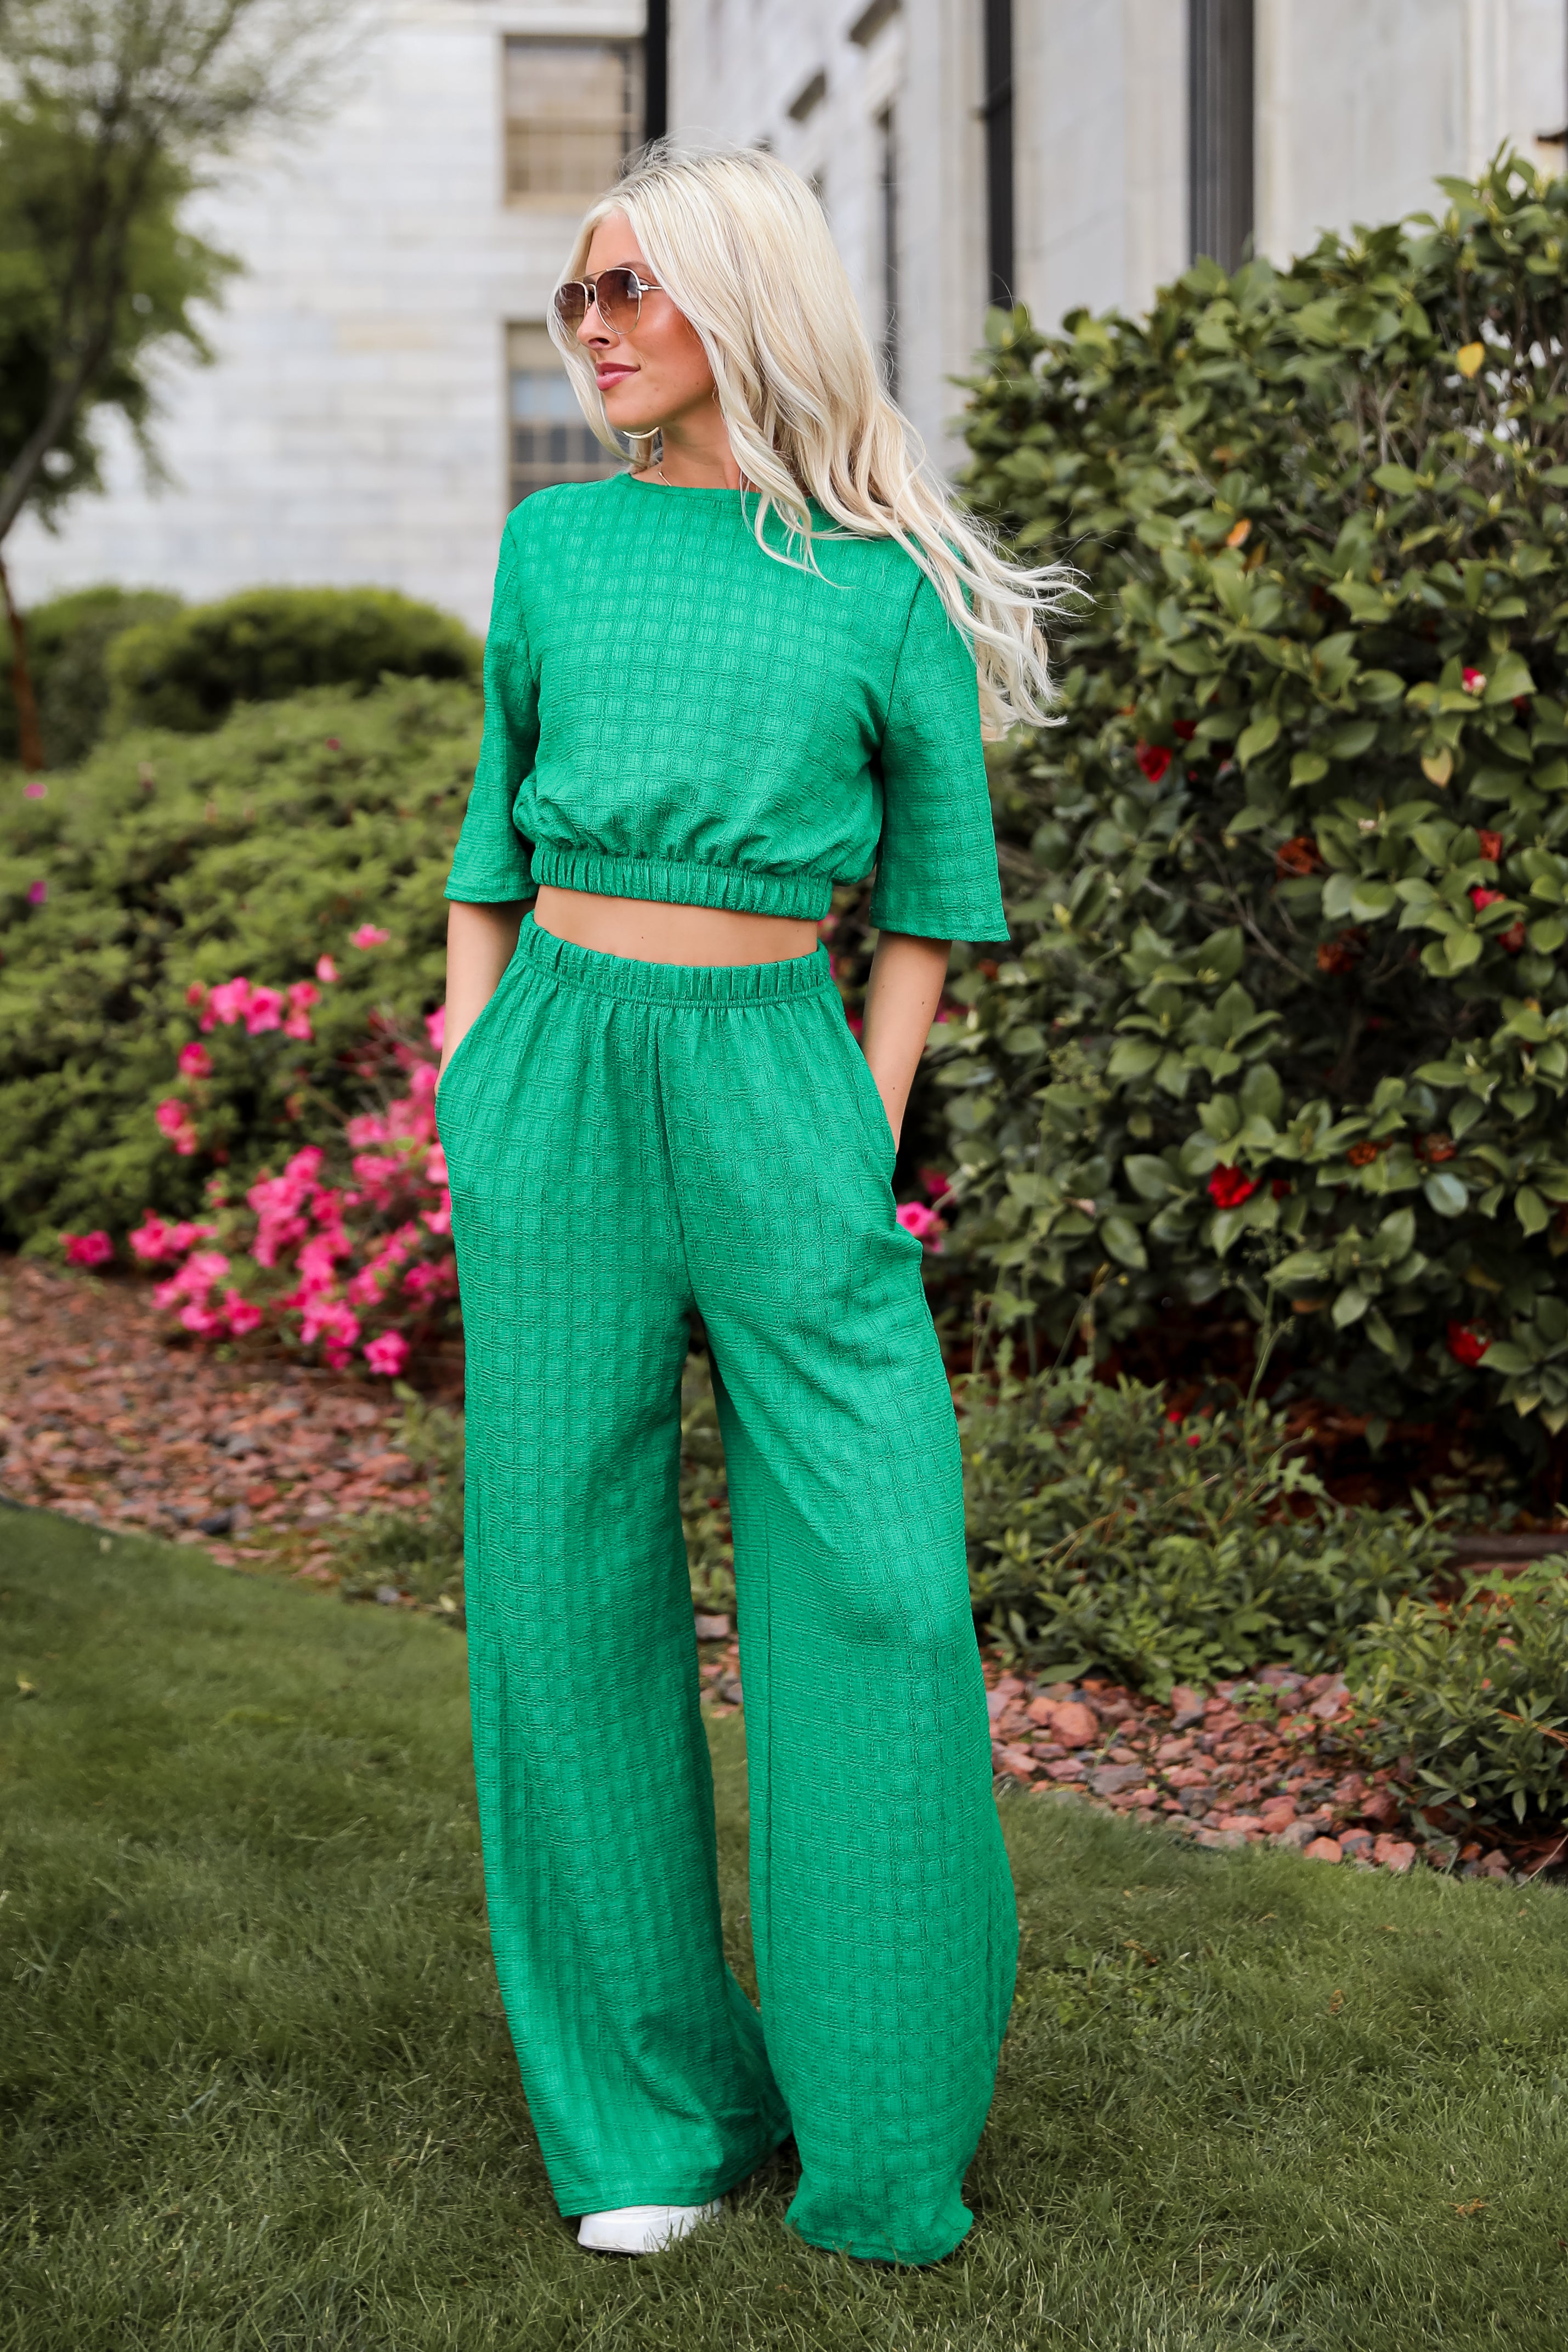
[{"label": "reddish-brown stone mulch bed bordering the lawn", "polygon": [[[0,1498],[106,1534],[200,1543],[235,1569],[336,1583],[334,1529],[418,1510],[388,1383],[277,1359],[223,1362],[150,1305],[150,1284],[0,1261]],[[1521,1538],[1526,1541],[1526,1538]],[[1500,1545],[1497,1545],[1500,1548]],[[388,1602],[404,1597],[390,1588]],[[698,1621],[705,1705],[743,1705],[729,1628]],[[1356,1762],[1333,1675],[1265,1668],[1157,1705],[1105,1679],[1037,1684],[985,1661],[999,1783],[1077,1797],[1199,1846],[1272,1842],[1312,1860],[1528,1875],[1549,1839],[1427,1839],[1410,1797]]]}]

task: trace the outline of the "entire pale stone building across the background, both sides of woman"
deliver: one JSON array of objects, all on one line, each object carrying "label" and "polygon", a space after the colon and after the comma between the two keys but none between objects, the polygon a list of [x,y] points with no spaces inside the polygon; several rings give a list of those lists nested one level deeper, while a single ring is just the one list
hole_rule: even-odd
[{"label": "entire pale stone building across the background, both sides of woman", "polygon": [[607,463],[543,315],[583,202],[663,118],[665,54],[677,132],[816,181],[943,461],[990,299],[1135,308],[1192,252],[1284,259],[1505,139],[1568,155],[1568,0],[360,5],[329,122],[205,202],[244,275],[216,367],[167,374],[167,485],[110,433],[108,494],[12,534],[26,602],[376,581],[480,626],[505,508]]}]

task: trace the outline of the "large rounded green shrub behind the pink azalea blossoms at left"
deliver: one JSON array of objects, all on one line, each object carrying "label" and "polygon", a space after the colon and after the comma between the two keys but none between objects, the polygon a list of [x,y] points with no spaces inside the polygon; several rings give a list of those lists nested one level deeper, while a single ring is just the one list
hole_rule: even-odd
[{"label": "large rounded green shrub behind the pink azalea blossoms at left", "polygon": [[[120,736],[42,800],[0,781],[0,1242],[193,1218],[214,1171],[237,1195],[334,1145],[371,1014],[411,1028],[442,1000],[477,746],[477,689],[411,680]],[[310,1040],[280,1014],[263,1056],[219,1023],[200,1145],[172,1152],[155,1110],[179,1094],[188,990],[242,974],[287,1007],[320,955],[336,983]]]}]

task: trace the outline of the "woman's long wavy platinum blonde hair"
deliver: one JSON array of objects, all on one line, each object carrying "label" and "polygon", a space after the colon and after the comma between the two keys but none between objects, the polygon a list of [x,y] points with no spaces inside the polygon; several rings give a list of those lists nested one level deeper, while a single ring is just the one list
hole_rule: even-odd
[{"label": "woman's long wavy platinum blonde hair", "polygon": [[[583,219],[562,278],[581,278],[599,221],[625,214],[649,268],[691,320],[717,388],[741,475],[766,517],[811,553],[816,499],[842,532],[896,539],[969,637],[987,736],[1046,720],[1053,687],[1041,616],[1060,609],[1074,574],[1060,564],[1013,564],[926,466],[910,421],[877,379],[849,275],[816,195],[759,148],[682,148],[661,139]],[[550,334],[567,360],[583,416],[621,452],[604,416],[592,360],[550,306]],[[651,463],[654,435],[632,440],[632,463]],[[783,555],[792,562],[797,557]]]}]

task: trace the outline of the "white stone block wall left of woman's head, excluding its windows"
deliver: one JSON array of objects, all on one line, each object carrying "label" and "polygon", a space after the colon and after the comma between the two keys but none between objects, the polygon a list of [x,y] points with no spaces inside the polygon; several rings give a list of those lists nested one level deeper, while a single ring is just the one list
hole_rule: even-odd
[{"label": "white stone block wall left of woman's head, excluding its windows", "polygon": [[219,362],[172,367],[153,489],[19,524],[19,595],[376,583],[480,628],[508,508],[505,327],[538,320],[576,209],[503,202],[505,33],[637,35],[642,0],[371,0],[331,120],[256,155],[195,226],[240,254]]}]

